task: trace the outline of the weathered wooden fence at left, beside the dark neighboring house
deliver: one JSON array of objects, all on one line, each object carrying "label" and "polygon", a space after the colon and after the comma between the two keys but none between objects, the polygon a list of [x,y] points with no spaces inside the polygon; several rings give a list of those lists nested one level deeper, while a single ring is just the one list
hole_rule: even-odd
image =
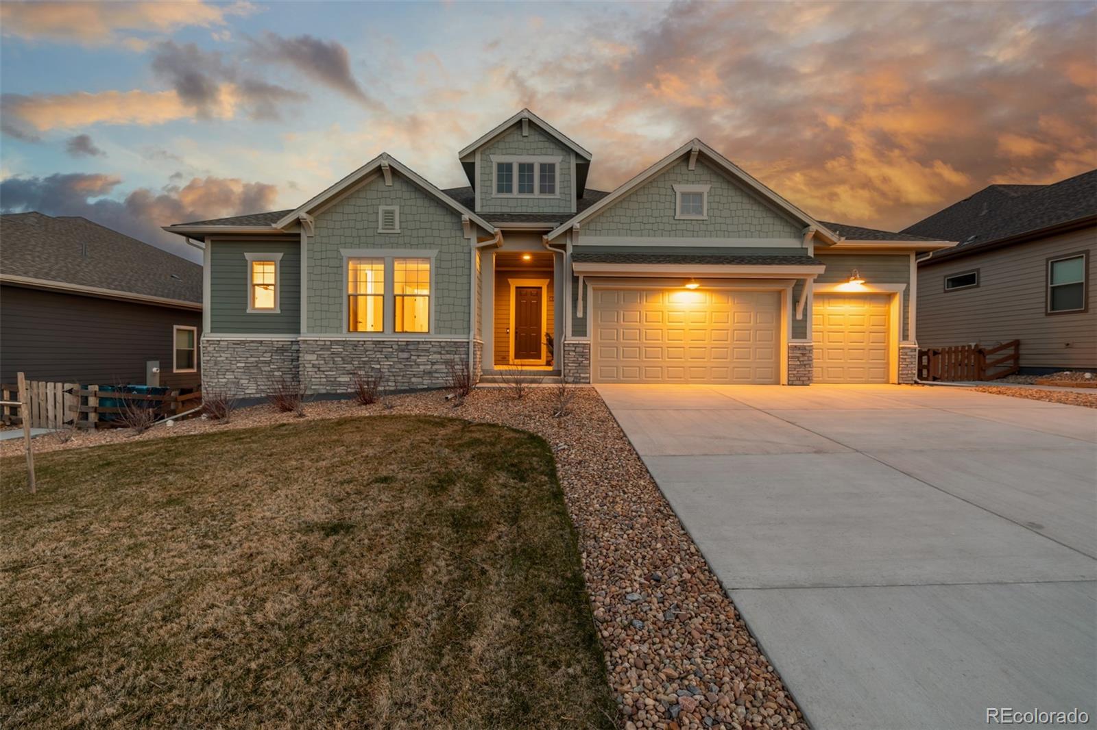
[{"label": "weathered wooden fence at left, beside the dark neighboring house", "polygon": [[[2,385],[4,401],[20,400],[19,388]],[[126,425],[127,411],[143,407],[152,411],[157,419],[182,413],[202,403],[202,391],[181,393],[169,390],[162,395],[125,392],[118,388],[106,390],[103,386],[83,386],[77,383],[45,383],[27,380],[30,414],[33,429],[112,429]],[[128,408],[127,408],[128,404]],[[4,406],[2,419],[5,424],[22,424],[23,407]]]}]

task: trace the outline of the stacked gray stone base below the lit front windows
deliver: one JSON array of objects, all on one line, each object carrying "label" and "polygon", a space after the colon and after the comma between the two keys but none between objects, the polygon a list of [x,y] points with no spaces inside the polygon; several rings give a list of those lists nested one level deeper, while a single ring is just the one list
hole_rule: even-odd
[{"label": "stacked gray stone base below the lit front windows", "polygon": [[[479,379],[474,343],[473,379]],[[282,378],[310,393],[350,393],[354,374],[376,373],[384,390],[444,388],[453,367],[468,364],[467,340],[218,339],[202,340],[202,387],[238,398],[262,397]]]}]

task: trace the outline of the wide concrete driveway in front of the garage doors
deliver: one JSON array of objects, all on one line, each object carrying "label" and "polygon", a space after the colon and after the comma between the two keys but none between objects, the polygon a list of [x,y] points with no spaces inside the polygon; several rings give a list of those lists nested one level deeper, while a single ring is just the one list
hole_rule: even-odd
[{"label": "wide concrete driveway in front of the garage doors", "polygon": [[598,386],[819,729],[1097,727],[1097,410],[959,388]]}]

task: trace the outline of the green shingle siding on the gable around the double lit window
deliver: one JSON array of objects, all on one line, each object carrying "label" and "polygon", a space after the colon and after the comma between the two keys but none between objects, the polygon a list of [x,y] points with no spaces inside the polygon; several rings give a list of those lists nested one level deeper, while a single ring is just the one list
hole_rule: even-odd
[{"label": "green shingle siding on the gable around the double lit window", "polygon": [[[399,232],[378,233],[378,208],[399,206]],[[470,243],[461,214],[395,170],[393,184],[378,176],[315,216],[308,239],[308,333],[342,334],[343,258],[340,249],[437,250],[431,271],[431,331],[468,335]],[[386,282],[392,288],[392,282]]]}]

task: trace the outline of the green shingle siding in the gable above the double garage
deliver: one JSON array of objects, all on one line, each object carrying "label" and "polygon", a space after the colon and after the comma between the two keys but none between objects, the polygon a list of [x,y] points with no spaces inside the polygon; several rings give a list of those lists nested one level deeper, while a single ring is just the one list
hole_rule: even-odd
[{"label": "green shingle siding in the gable above the double garage", "polygon": [[[708,219],[677,220],[674,185],[711,185]],[[698,160],[681,159],[593,218],[583,236],[674,236],[676,238],[800,238],[803,224],[764,202]]]}]

